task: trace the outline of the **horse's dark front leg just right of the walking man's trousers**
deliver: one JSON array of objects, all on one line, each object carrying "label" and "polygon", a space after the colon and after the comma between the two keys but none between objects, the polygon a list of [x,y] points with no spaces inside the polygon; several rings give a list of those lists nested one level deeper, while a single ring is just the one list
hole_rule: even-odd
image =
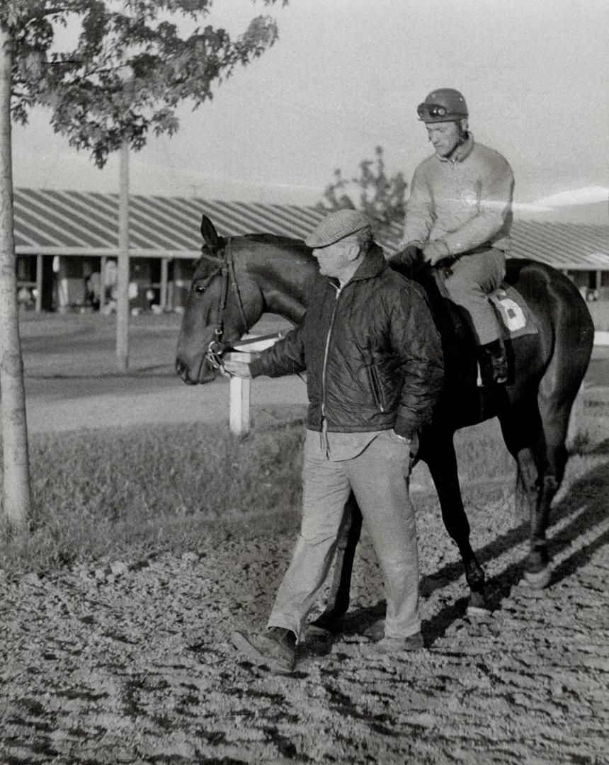
[{"label": "horse's dark front leg just right of the walking man's trousers", "polygon": [[425,461],[432,474],[442,511],[442,520],[451,538],[456,542],[465,569],[465,579],[470,588],[467,614],[475,616],[490,609],[485,594],[484,570],[477,561],[470,544],[470,524],[467,520],[457,470],[457,455],[451,433],[424,431],[419,457]]}]

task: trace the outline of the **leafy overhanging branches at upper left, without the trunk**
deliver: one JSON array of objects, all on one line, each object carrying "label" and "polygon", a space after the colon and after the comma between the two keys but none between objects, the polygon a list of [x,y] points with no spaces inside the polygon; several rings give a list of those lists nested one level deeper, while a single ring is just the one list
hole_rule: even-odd
[{"label": "leafy overhanging branches at upper left, without the trunk", "polygon": [[[4,0],[2,24],[15,50],[13,118],[27,122],[31,106],[47,106],[55,131],[90,150],[100,167],[125,139],[137,150],[151,131],[173,134],[182,100],[191,99],[196,108],[212,99],[214,86],[278,36],[274,19],[259,15],[236,40],[209,24],[181,37],[181,28],[197,24],[212,4]],[[77,41],[68,50],[53,50],[57,28],[68,22],[80,25]]]}]

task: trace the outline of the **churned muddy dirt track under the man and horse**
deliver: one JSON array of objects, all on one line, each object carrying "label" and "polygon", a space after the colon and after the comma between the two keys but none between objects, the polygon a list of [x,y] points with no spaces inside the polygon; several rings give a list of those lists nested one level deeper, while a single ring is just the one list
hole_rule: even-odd
[{"label": "churned muddy dirt track under the man and horse", "polygon": [[466,492],[490,617],[465,615],[454,546],[436,509],[418,513],[420,653],[365,656],[361,632],[383,607],[367,539],[342,632],[304,645],[291,675],[228,640],[263,626],[291,530],[5,575],[2,763],[607,763],[607,454],[571,469],[541,592],[520,584],[526,526],[510,491]]}]

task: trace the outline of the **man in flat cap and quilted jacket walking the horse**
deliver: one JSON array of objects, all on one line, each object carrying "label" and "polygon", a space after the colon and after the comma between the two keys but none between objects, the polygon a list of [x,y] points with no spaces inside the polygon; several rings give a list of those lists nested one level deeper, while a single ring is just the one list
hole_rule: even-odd
[{"label": "man in flat cap and quilted jacket walking the horse", "polygon": [[288,671],[330,570],[351,491],[385,584],[385,635],[373,649],[422,646],[415,513],[405,479],[443,381],[440,337],[424,292],[389,269],[368,218],[356,210],[331,213],[305,243],[319,275],[302,324],[251,363],[224,363],[226,373],[241,377],[307,370],[300,535],[269,629],[232,636],[249,659]]}]

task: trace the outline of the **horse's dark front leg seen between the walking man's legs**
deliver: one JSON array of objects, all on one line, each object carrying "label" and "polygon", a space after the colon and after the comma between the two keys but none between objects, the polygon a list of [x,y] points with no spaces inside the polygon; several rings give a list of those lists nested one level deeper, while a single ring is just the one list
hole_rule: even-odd
[{"label": "horse's dark front leg seen between the walking man's legs", "polygon": [[333,633],[338,620],[347,614],[350,601],[351,574],[357,542],[362,532],[362,513],[353,492],[345,505],[340,539],[337,545],[334,574],[324,612],[312,622],[313,627]]}]

